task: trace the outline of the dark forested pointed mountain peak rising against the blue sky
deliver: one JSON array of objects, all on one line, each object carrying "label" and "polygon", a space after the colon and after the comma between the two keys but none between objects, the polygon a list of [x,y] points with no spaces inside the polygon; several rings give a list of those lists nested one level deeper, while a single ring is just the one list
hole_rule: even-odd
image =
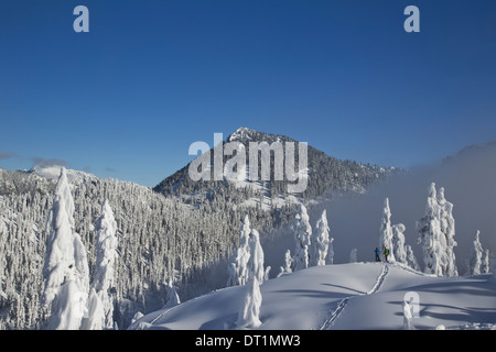
[{"label": "dark forested pointed mountain peak rising against the blue sky", "polygon": [[[279,134],[270,134],[257,132],[247,128],[240,128],[230,134],[226,142],[237,141],[246,146],[246,161],[249,161],[249,142],[287,142],[295,143],[298,141]],[[212,164],[214,163],[213,150],[211,150]],[[294,152],[294,165],[299,165],[299,154]],[[285,157],[285,150],[284,150]],[[228,156],[224,156],[224,162]],[[259,198],[260,193],[257,189],[262,189],[265,196],[270,199],[285,199],[288,196],[288,184],[294,182],[274,180],[273,156],[271,162],[270,182],[263,183],[261,187],[252,185],[252,187],[236,187],[233,183],[224,180],[192,180],[187,175],[190,164],[177,170],[172,176],[163,179],[157,185],[153,190],[164,194],[166,196],[174,195],[187,200],[191,204],[205,201],[205,199],[213,198],[228,198],[236,202],[245,201],[252,197]],[[260,164],[260,158],[259,158]],[[377,165],[360,164],[353,161],[341,161],[328,156],[323,152],[308,146],[308,175],[309,182],[306,189],[296,196],[304,201],[316,199],[322,196],[330,196],[333,191],[364,191],[373,183],[384,180],[387,177],[401,172],[395,167],[381,167]],[[213,177],[211,178],[213,179]],[[246,184],[250,184],[248,177]],[[254,183],[254,184],[260,184]]]}]

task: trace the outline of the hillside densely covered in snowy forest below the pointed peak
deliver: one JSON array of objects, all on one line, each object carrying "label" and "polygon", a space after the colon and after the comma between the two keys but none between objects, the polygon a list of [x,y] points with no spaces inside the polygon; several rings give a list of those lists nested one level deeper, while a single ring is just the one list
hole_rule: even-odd
[{"label": "hillside densely covered in snowy forest below the pointed peak", "polygon": [[[269,229],[281,227],[294,215],[294,205],[269,212],[233,207],[220,199],[192,208],[136,184],[68,176],[73,232],[85,246],[90,279],[97,267],[105,267],[98,260],[99,233],[112,228],[104,226],[107,220],[98,220],[106,199],[114,212],[117,255],[109,292],[119,329],[128,327],[137,311],[166,305],[171,278],[183,300],[224,287],[223,273],[238,244],[234,229],[239,228],[241,216],[252,219],[263,243],[270,240]],[[0,169],[0,329],[41,329],[47,323],[50,312],[42,306],[43,266],[55,186],[56,180],[33,173]],[[104,311],[109,315],[108,308]],[[108,320],[104,326],[110,327]]]}]

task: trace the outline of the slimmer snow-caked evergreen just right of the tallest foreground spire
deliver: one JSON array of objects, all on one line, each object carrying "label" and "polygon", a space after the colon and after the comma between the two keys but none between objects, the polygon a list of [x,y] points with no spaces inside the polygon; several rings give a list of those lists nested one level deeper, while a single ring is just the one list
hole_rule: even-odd
[{"label": "slimmer snow-caked evergreen just right of the tallest foreground spire", "polygon": [[88,299],[88,318],[83,319],[82,329],[101,330],[114,328],[114,263],[117,256],[117,222],[107,199],[101,206],[101,216],[95,226],[96,263]]}]

